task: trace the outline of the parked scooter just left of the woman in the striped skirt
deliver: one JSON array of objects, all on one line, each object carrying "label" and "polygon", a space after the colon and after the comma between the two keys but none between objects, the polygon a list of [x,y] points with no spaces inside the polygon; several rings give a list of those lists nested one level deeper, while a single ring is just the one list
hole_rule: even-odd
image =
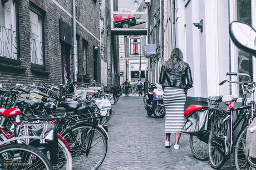
[{"label": "parked scooter just left of the woman in the striped skirt", "polygon": [[149,92],[144,96],[145,109],[147,116],[154,114],[156,118],[165,116],[165,107],[163,101],[164,91],[160,84],[152,84]]}]

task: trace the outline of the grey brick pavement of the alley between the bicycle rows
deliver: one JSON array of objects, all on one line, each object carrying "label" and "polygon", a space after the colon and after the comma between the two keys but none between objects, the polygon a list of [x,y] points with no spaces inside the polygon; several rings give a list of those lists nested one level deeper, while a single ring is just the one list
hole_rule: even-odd
[{"label": "grey brick pavement of the alley between the bicycle rows", "polygon": [[[99,169],[211,169],[193,157],[189,135],[181,136],[180,150],[165,148],[164,119],[147,117],[141,96],[120,97],[108,127],[107,156]],[[222,169],[235,169],[233,160]]]}]

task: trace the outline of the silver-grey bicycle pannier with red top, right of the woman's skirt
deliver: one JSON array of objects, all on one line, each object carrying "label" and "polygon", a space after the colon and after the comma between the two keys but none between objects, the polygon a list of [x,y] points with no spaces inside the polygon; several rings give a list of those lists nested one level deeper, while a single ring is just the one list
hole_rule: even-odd
[{"label": "silver-grey bicycle pannier with red top, right of the woman's skirt", "polygon": [[184,112],[184,131],[190,134],[199,134],[207,131],[209,107],[190,105]]}]

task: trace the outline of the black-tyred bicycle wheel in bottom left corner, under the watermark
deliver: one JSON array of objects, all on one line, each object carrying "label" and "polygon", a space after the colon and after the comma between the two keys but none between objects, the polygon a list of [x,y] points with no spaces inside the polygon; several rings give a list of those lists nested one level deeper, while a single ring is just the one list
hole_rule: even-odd
[{"label": "black-tyred bicycle wheel in bottom left corner, under the watermark", "polygon": [[1,169],[53,169],[43,152],[36,147],[24,144],[2,146],[0,163]]}]

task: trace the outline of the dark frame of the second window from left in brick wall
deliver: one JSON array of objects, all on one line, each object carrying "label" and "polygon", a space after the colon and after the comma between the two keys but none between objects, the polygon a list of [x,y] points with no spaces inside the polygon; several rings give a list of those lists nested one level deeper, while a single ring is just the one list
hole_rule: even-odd
[{"label": "dark frame of the second window from left in brick wall", "polygon": [[[45,64],[45,58],[46,58],[46,54],[45,54],[45,13],[43,11],[41,11],[40,9],[38,9],[33,3],[29,4],[29,12],[33,12],[36,13],[38,16],[41,17],[41,24],[42,24],[42,44],[43,44],[43,65],[41,64],[35,64],[31,62],[31,68],[32,70],[45,70],[46,64]],[[30,18],[30,16],[29,16]],[[29,23],[30,26],[30,34],[31,34],[31,25]],[[31,46],[30,46],[31,47]],[[32,55],[32,54],[31,54]],[[33,69],[35,68],[35,69]]]}]

